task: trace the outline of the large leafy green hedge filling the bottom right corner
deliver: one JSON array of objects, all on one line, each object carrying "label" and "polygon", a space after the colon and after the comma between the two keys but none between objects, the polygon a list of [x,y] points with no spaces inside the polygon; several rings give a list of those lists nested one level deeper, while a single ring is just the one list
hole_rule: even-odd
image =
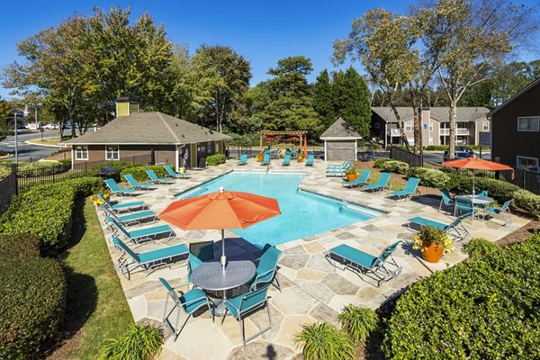
[{"label": "large leafy green hedge filling the bottom right corner", "polygon": [[540,234],[412,284],[389,320],[392,359],[540,357]]}]

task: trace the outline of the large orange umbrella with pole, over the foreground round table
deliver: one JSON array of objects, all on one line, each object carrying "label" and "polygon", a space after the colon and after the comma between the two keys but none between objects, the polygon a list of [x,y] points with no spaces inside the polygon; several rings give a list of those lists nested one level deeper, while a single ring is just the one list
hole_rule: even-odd
[{"label": "large orange umbrella with pole, over the foreground round table", "polygon": [[172,202],[158,218],[184,230],[220,229],[221,265],[225,266],[225,229],[245,229],[279,214],[279,204],[273,198],[221,187],[215,193]]}]

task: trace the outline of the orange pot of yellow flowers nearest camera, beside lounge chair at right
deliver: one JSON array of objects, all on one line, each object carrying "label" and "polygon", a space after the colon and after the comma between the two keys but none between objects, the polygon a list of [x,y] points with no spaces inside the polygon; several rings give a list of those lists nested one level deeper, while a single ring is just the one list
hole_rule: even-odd
[{"label": "orange pot of yellow flowers nearest camera, beside lounge chair at right", "polygon": [[424,260],[430,263],[438,263],[443,254],[454,250],[446,231],[432,226],[422,226],[413,239],[412,248],[419,249]]}]

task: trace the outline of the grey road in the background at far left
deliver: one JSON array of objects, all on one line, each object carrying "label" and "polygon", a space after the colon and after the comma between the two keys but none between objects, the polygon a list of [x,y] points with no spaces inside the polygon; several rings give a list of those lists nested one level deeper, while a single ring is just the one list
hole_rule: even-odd
[{"label": "grey road in the background at far left", "polygon": [[[58,136],[58,130],[43,131],[44,138],[50,138],[52,136]],[[37,161],[40,158],[48,157],[53,152],[58,151],[58,148],[44,147],[44,146],[31,145],[31,144],[24,143],[24,141],[27,141],[30,139],[40,139],[41,138],[40,131],[19,130],[17,134],[17,138],[19,138],[18,139],[19,140],[19,160],[22,160],[22,161]],[[4,141],[0,141],[0,150],[3,150],[11,154],[15,154],[15,137],[10,136],[4,139]],[[7,158],[4,158],[4,160],[14,160],[14,158],[15,158],[14,156],[7,157]]]}]

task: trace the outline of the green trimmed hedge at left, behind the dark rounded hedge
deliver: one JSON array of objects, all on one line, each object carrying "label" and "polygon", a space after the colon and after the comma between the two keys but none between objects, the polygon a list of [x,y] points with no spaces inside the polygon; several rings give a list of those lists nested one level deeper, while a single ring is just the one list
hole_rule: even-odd
[{"label": "green trimmed hedge at left, behind the dark rounded hedge", "polygon": [[56,184],[34,186],[14,198],[0,217],[0,234],[30,233],[40,238],[41,254],[55,256],[71,235],[76,199],[103,187],[97,177],[81,177]]}]

